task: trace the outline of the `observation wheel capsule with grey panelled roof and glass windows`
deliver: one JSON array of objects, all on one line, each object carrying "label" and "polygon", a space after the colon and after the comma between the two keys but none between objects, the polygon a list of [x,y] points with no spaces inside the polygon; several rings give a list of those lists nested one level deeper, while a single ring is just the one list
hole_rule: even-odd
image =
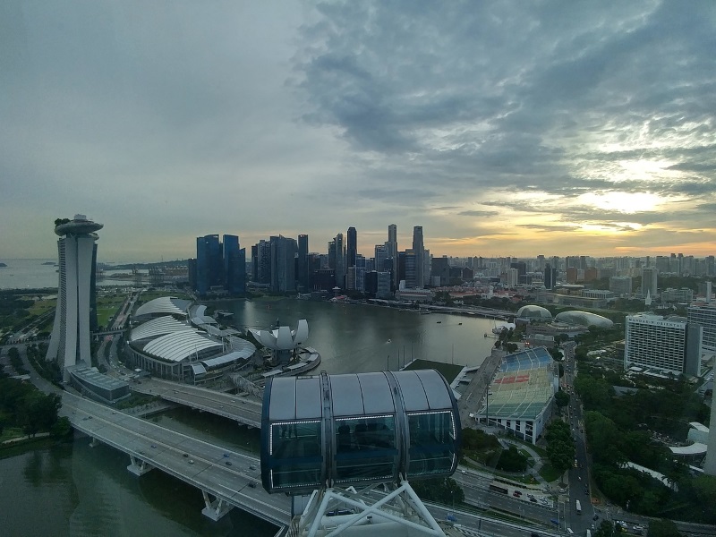
[{"label": "observation wheel capsule with grey panelled roof and glass windows", "polygon": [[272,379],[264,392],[261,480],[301,494],[328,483],[450,475],[460,418],[437,371]]}]

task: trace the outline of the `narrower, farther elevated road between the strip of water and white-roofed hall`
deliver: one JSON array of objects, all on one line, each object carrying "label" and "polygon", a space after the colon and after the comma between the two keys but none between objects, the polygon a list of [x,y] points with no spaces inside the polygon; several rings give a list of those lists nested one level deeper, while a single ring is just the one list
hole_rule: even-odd
[{"label": "narrower, farther elevated road between the strip of water and white-roofed hall", "polygon": [[166,401],[190,406],[202,412],[215,413],[249,427],[261,426],[261,402],[254,396],[234,396],[198,386],[189,386],[159,379],[141,379],[132,383],[132,390]]}]

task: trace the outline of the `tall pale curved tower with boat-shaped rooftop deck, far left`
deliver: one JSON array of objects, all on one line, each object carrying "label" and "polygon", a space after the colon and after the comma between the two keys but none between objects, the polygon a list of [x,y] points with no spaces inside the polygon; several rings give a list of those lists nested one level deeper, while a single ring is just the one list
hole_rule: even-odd
[{"label": "tall pale curved tower with boat-shaped rooftop deck, far left", "polygon": [[[97,243],[95,233],[103,225],[88,220],[84,215],[74,219],[55,220],[59,281],[55,324],[52,327],[47,360],[56,360],[60,368],[82,361],[92,363],[90,351],[90,317],[97,316],[95,272]],[[69,373],[63,372],[64,380]]]}]

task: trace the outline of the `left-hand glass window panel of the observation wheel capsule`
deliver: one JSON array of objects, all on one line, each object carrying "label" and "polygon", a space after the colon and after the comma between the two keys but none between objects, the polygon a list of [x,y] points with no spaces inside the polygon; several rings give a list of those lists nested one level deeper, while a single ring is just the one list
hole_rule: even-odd
[{"label": "left-hand glass window panel of the observation wheel capsule", "polygon": [[320,485],[323,461],[320,420],[272,423],[269,441],[269,471],[274,489]]}]

